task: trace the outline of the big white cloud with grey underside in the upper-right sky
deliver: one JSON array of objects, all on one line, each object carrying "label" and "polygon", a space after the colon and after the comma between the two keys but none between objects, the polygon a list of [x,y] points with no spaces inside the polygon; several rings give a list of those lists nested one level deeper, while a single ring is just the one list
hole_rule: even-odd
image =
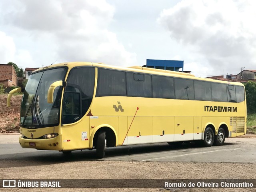
[{"label": "big white cloud with grey underside in the upper-right sky", "polygon": [[252,0],[182,0],[163,10],[158,22],[198,55],[192,62],[226,74],[243,66],[256,69],[255,10]]}]

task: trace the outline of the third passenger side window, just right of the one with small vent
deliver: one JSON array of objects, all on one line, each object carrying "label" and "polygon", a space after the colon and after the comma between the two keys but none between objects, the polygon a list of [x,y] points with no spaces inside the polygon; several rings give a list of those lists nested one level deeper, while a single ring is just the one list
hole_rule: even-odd
[{"label": "third passenger side window, just right of the one with small vent", "polygon": [[154,98],[175,98],[174,80],[171,77],[152,76]]}]

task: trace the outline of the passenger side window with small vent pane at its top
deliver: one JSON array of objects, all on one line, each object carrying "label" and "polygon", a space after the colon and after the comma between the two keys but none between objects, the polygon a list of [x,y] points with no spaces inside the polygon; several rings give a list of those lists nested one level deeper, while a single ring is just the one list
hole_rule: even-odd
[{"label": "passenger side window with small vent pane at its top", "polygon": [[[126,73],[127,96],[152,97],[151,76],[147,74],[140,74],[144,79],[144,81],[141,81],[138,80],[138,74],[134,75],[134,73]],[[135,78],[137,80],[135,80]]]}]

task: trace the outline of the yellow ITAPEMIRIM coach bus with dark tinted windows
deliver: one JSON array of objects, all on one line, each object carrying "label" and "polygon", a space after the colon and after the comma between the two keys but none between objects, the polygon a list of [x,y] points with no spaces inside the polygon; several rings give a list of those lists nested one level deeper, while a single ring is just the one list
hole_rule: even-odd
[{"label": "yellow ITAPEMIRIM coach bus with dark tinted windows", "polygon": [[140,66],[70,62],[34,71],[20,110],[22,148],[106,147],[198,140],[220,146],[246,133],[243,84]]}]

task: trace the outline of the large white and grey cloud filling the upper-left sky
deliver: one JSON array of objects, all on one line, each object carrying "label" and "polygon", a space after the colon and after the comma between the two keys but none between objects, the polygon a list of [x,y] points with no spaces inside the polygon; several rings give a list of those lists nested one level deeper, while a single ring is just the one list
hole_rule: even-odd
[{"label": "large white and grey cloud filling the upper-left sky", "polygon": [[[19,50],[25,51],[35,66],[58,62],[92,61],[131,65],[136,54],[126,51],[116,34],[108,30],[114,7],[106,0],[12,0],[0,2],[0,22],[8,28]],[[23,34],[28,44],[21,44]],[[16,41],[15,41],[16,40]],[[24,46],[24,47],[22,47]],[[26,64],[26,63],[25,63]],[[22,64],[25,65],[25,64]]]}]

